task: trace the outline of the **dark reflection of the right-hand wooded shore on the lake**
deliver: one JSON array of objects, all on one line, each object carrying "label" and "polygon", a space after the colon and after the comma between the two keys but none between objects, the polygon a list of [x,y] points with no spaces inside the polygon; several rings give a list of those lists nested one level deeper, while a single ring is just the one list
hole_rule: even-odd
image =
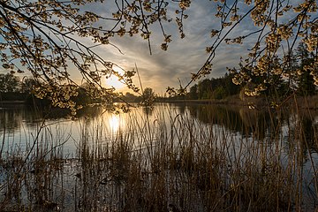
[{"label": "dark reflection of the right-hand wooded shore on the lake", "polygon": [[[177,106],[178,104],[175,104]],[[246,107],[229,107],[210,104],[179,104],[180,114],[188,113],[205,125],[221,125],[229,133],[240,133],[243,137],[273,142],[293,131],[302,142],[317,152],[316,132],[318,117],[316,110],[301,110],[299,115],[287,108],[281,110],[250,110]],[[289,136],[288,136],[289,137]],[[290,138],[290,137],[289,137]]]}]

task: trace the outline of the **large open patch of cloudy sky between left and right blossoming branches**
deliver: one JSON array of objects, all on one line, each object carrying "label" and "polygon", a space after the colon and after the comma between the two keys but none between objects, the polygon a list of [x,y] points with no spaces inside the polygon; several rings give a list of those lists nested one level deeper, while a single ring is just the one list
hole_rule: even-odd
[{"label": "large open patch of cloudy sky between left and right blossoming branches", "polygon": [[178,87],[178,80],[187,83],[190,73],[197,72],[208,57],[205,48],[209,42],[210,25],[216,24],[216,19],[205,8],[205,4],[192,4],[187,11],[190,18],[185,20],[185,39],[179,39],[175,24],[164,26],[173,40],[168,51],[160,49],[161,34],[152,34],[152,55],[149,54],[148,42],[136,35],[112,40],[124,55],[111,48],[105,50],[105,55],[127,69],[137,64],[143,86],[153,87],[158,92],[163,92],[168,86]]}]

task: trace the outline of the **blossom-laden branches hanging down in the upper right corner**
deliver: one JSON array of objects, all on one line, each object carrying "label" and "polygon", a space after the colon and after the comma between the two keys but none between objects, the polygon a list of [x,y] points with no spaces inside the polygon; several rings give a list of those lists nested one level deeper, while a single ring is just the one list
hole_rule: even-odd
[{"label": "blossom-laden branches hanging down in the upper right corner", "polygon": [[[252,1],[246,1],[246,4],[252,5]],[[292,51],[299,41],[304,42],[307,51],[314,55],[304,71],[318,83],[316,11],[317,3],[312,0],[301,1],[299,4],[292,4],[290,1],[254,2],[254,7],[249,12],[255,26],[260,27],[254,32],[258,34],[258,38],[248,57],[242,60],[240,69],[230,69],[236,74],[233,79],[236,84],[259,79],[253,90],[246,90],[246,95],[260,95],[261,91],[276,87],[279,84],[277,81],[281,79],[292,82],[296,74],[296,70],[292,68]],[[289,18],[286,19],[285,16]],[[290,86],[293,86],[292,83]]]}]

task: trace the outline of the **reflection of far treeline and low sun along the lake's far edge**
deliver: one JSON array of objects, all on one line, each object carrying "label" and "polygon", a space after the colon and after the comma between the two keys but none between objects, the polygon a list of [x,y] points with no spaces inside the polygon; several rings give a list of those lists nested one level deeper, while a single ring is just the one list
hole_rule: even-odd
[{"label": "reflection of far treeline and low sun along the lake's far edge", "polygon": [[[110,133],[124,132],[131,127],[136,127],[147,120],[154,122],[155,119],[171,118],[169,114],[189,116],[199,120],[203,125],[219,125],[229,133],[239,133],[243,137],[253,137],[257,140],[278,140],[279,136],[285,136],[288,132],[288,140],[302,140],[308,147],[317,152],[316,132],[318,111],[304,111],[298,116],[292,110],[249,110],[242,107],[216,106],[209,104],[186,104],[186,103],[158,103],[153,108],[136,108],[131,114],[113,114],[105,112],[102,108],[89,108],[80,110],[77,119],[67,118],[67,113],[61,110],[51,110],[48,113],[38,112],[27,107],[11,107],[0,110],[0,134],[32,132],[42,121],[42,117],[48,117],[49,125],[58,125],[63,121],[64,127],[78,125],[93,125],[96,121],[102,121]],[[138,114],[138,115],[136,115]],[[163,117],[161,117],[165,114]],[[134,117],[135,124],[129,120]],[[52,121],[54,120],[54,122]],[[169,121],[167,121],[169,123]],[[166,124],[168,125],[168,124]],[[76,132],[72,129],[72,134]],[[79,138],[78,135],[72,135]],[[290,136],[292,134],[292,136]],[[277,137],[277,138],[275,138]],[[306,148],[305,148],[306,149]]]}]

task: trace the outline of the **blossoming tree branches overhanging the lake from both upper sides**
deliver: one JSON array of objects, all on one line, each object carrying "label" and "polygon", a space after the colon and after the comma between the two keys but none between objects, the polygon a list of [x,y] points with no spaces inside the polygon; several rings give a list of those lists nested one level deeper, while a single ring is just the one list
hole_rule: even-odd
[{"label": "blossoming tree branches overhanging the lake from both upper sides", "polygon": [[[95,52],[95,47],[111,45],[112,37],[139,34],[148,42],[151,54],[152,31],[159,28],[163,34],[161,48],[167,50],[172,41],[165,33],[165,22],[175,20],[181,38],[184,32],[184,19],[191,0],[129,0],[110,1],[108,11],[85,11],[106,4],[102,0],[72,1],[0,1],[0,57],[3,67],[11,72],[31,72],[35,79],[45,82],[36,95],[48,96],[56,106],[76,110],[70,96],[76,96],[77,84],[72,80],[70,70],[77,69],[87,81],[87,94],[111,104],[117,97],[114,88],[103,87],[102,79],[111,75],[124,81],[127,87],[138,91],[133,85],[134,70],[123,74],[114,70],[116,64],[106,61]],[[313,61],[304,66],[304,71],[318,82],[317,59],[317,11],[315,0],[269,1],[269,0],[215,0],[211,1],[212,11],[220,20],[219,27],[211,29],[211,42],[206,48],[208,59],[198,72],[192,73],[193,80],[201,79],[212,71],[217,49],[227,44],[242,44],[248,38],[254,46],[241,67],[230,69],[235,74],[233,81],[244,84],[259,77],[256,87],[246,91],[248,95],[258,95],[261,91],[276,85],[276,80],[292,79],[290,69],[292,50],[299,40],[306,44],[308,52],[314,55]],[[177,9],[177,10],[176,10]],[[175,11],[176,17],[171,11]],[[235,28],[245,21],[252,21],[254,29],[231,37]],[[157,24],[157,27],[152,27]],[[93,43],[79,42],[79,37],[88,37]],[[82,40],[83,41],[83,40]],[[88,43],[88,44],[87,44]],[[64,85],[70,85],[64,87]],[[292,85],[292,84],[291,84]],[[184,93],[186,87],[180,87]],[[60,89],[66,90],[60,90]],[[169,87],[168,90],[173,90]],[[57,91],[56,95],[46,95]],[[173,92],[171,92],[173,94]],[[63,103],[61,103],[63,102]]]}]

